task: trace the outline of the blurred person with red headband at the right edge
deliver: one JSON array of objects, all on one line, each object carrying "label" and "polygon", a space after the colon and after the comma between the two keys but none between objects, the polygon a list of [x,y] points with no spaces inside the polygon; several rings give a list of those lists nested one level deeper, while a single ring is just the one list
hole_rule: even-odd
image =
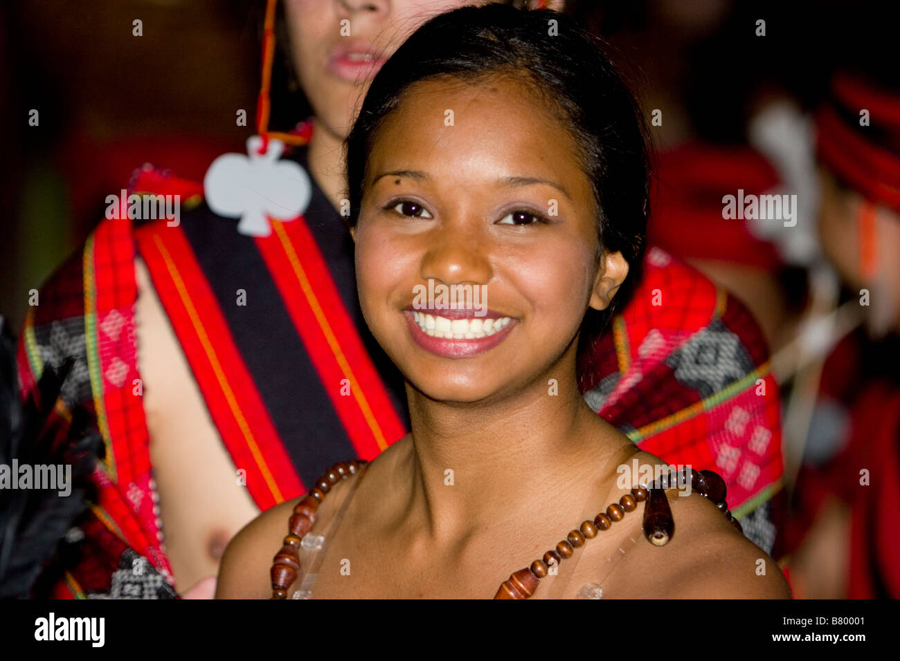
[{"label": "blurred person with red headband at the right edge", "polygon": [[791,576],[809,598],[900,597],[900,77],[870,28],[878,49],[860,47],[816,116],[819,234],[861,325],[824,361],[795,489]]}]

